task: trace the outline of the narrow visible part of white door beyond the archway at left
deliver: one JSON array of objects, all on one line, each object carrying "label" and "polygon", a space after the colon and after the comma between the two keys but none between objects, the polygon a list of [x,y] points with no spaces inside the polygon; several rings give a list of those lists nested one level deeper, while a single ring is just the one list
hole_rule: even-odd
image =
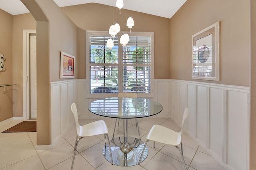
[{"label": "narrow visible part of white door beyond the archway at left", "polygon": [[36,119],[36,34],[30,34],[30,119]]}]

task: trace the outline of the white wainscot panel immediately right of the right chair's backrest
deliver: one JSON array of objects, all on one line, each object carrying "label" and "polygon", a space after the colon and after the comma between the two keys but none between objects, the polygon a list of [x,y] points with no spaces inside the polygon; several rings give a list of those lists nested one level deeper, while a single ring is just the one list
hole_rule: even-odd
[{"label": "white wainscot panel immediately right of the right chair's backrest", "polygon": [[196,138],[196,85],[188,84],[188,118],[187,129]]}]

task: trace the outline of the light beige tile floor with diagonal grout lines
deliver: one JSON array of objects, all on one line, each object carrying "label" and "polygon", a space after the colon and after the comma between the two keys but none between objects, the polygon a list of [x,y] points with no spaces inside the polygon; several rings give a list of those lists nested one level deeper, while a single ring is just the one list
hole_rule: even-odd
[{"label": "light beige tile floor with diagonal grout lines", "polygon": [[[80,124],[87,124],[95,119],[81,119]],[[104,119],[112,138],[115,119]],[[138,119],[142,141],[154,124],[163,125],[176,131],[180,127],[171,119]],[[20,123],[12,120],[0,123],[0,132]],[[135,121],[128,122],[129,136],[138,136]],[[122,121],[116,128],[115,136],[122,136]],[[75,126],[71,125],[59,141],[50,150],[36,150],[36,132],[0,133],[0,169],[1,170],[70,170],[75,143]],[[140,165],[121,167],[111,165],[102,155],[104,135],[92,136],[80,140],[74,170],[183,170],[184,166],[179,151],[173,146],[148,142],[148,157]],[[183,152],[189,170],[224,170],[212,156],[207,154],[187,134],[183,136]]]}]

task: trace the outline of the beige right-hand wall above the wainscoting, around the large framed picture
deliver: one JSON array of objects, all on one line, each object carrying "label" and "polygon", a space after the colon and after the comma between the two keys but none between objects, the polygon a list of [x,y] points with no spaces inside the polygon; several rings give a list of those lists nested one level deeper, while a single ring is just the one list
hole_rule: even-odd
[{"label": "beige right-hand wall above the wainscoting, around the large framed picture", "polygon": [[192,35],[220,21],[220,81],[249,86],[249,0],[188,0],[171,18],[170,78],[191,80]]}]

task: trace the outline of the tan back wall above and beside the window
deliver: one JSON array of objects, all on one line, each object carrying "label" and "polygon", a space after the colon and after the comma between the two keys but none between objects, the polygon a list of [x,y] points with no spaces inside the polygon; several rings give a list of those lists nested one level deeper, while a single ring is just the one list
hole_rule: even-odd
[{"label": "tan back wall above and beside the window", "polygon": [[[110,25],[116,23],[116,8],[101,4],[82,4],[76,6],[64,7],[62,10],[70,17],[70,19],[83,30],[108,31]],[[114,13],[114,17],[113,17]],[[111,15],[111,17],[110,17]],[[144,14],[140,12],[121,10],[118,12],[118,24],[121,31],[129,31],[126,26],[126,20],[132,16],[134,19],[134,27],[132,31],[136,32],[154,32],[154,78],[169,79],[170,78],[170,19]],[[124,28],[124,18],[125,28]],[[85,34],[84,34],[85,35]],[[84,44],[85,45],[85,44]],[[83,49],[85,46],[83,47]],[[79,67],[79,78],[85,77],[85,51],[81,55]]]}]

